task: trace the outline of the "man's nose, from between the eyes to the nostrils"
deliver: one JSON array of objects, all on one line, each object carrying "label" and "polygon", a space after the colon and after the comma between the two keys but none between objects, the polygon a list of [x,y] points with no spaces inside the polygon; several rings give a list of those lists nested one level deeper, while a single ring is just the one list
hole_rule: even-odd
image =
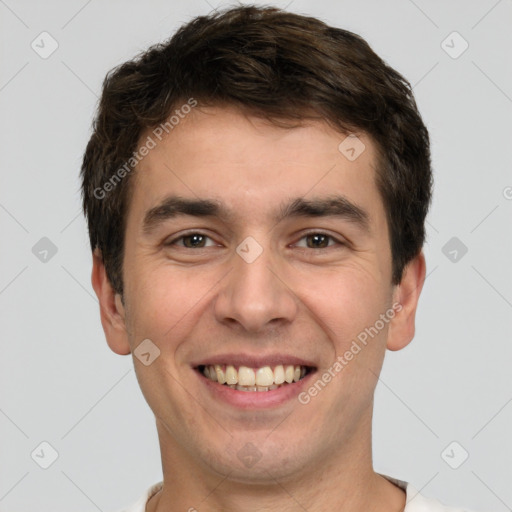
[{"label": "man's nose, from between the eyes to the nostrils", "polygon": [[233,265],[222,281],[215,303],[219,322],[258,333],[293,321],[298,299],[270,248],[264,249],[254,261],[234,253]]}]

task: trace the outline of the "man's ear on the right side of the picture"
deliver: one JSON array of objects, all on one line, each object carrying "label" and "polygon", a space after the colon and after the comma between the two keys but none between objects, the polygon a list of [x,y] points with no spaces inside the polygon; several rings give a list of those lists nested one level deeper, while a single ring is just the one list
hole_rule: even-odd
[{"label": "man's ear on the right side of the picture", "polygon": [[423,283],[425,282],[425,256],[423,251],[411,260],[404,269],[400,284],[395,286],[393,292],[396,314],[389,323],[387,348],[400,350],[406,347],[414,337],[414,321],[416,308]]}]

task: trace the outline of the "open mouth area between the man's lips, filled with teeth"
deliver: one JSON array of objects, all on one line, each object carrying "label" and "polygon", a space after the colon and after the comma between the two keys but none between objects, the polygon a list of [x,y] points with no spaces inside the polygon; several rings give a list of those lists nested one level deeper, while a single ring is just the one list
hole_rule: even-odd
[{"label": "open mouth area between the man's lips, filled with teeth", "polygon": [[277,365],[251,368],[230,364],[200,365],[197,370],[207,379],[237,391],[272,391],[302,380],[314,371],[302,365]]}]

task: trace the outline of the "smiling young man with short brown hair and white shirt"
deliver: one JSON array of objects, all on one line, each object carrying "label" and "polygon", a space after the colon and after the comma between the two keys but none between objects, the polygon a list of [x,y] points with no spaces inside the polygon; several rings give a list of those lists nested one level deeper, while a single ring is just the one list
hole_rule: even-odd
[{"label": "smiling young man with short brown hair and white shirt", "polygon": [[409,84],[363,39],[198,17],[107,76],[82,177],[107,342],[161,447],[130,511],[454,510],[372,467],[432,176]]}]

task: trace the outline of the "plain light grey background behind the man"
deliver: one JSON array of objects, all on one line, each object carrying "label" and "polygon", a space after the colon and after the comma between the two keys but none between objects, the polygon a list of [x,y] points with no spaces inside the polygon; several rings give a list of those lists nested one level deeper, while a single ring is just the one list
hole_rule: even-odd
[{"label": "plain light grey background behind the man", "polygon": [[[511,510],[512,2],[274,2],[287,4],[365,37],[431,132],[429,275],[416,338],[387,354],[377,388],[375,468]],[[0,0],[0,511],[114,511],[161,479],[131,356],[104,341],[78,172],[105,73],[224,5]],[[43,31],[59,45],[46,59],[31,47]],[[457,58],[453,31],[469,44]],[[34,460],[48,449],[31,457],[43,441],[58,452],[48,469]]]}]

